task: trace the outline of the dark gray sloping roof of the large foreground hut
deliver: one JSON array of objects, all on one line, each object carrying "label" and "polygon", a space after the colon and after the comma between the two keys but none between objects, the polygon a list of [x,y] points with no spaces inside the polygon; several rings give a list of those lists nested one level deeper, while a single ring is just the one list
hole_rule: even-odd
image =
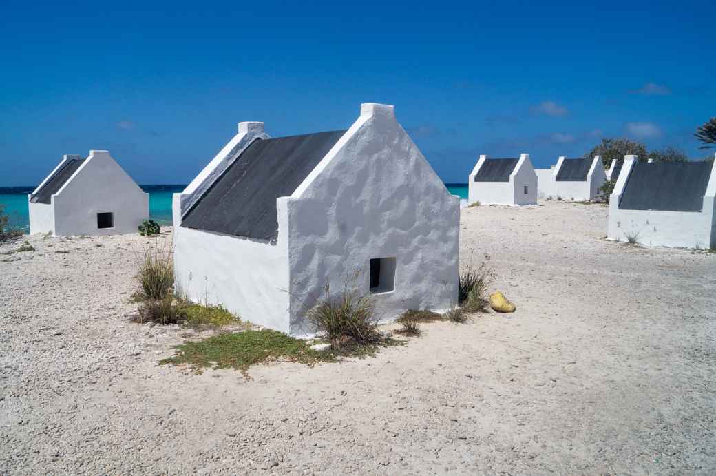
[{"label": "dark gray sloping roof of the large foreground hut", "polygon": [[344,133],[256,139],[189,209],[181,226],[276,239],[276,199],[294,193]]}]

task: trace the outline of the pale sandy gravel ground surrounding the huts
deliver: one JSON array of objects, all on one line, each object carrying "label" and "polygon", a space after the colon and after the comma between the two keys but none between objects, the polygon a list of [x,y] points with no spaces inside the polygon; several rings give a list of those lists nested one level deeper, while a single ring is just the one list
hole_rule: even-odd
[{"label": "pale sandy gravel ground surrounding the huts", "polygon": [[461,227],[516,313],[251,381],[157,365],[188,334],[130,323],[146,238],[30,238],[0,255],[0,473],[716,472],[716,254],[606,242],[599,205]]}]

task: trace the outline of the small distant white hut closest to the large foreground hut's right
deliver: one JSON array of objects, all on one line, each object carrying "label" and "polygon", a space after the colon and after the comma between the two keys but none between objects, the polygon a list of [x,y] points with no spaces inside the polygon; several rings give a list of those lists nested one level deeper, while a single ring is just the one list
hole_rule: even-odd
[{"label": "small distant white hut closest to the large foreground hut's right", "polygon": [[468,178],[468,205],[537,204],[537,174],[529,154],[520,158],[480,156]]}]

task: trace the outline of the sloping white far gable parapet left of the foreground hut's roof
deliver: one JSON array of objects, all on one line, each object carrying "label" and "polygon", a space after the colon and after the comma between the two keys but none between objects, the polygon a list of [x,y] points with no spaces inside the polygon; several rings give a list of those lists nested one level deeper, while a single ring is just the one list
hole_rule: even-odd
[{"label": "sloping white far gable parapet left of the foreground hut's roof", "polygon": [[223,171],[233,163],[234,159],[248,147],[256,138],[268,139],[269,135],[263,130],[263,123],[241,122],[238,123],[238,133],[223,146],[221,151],[199,172],[197,176],[186,186],[181,194],[181,211],[184,215],[193,204],[200,199],[204,192],[211,187],[211,184],[221,176]]}]

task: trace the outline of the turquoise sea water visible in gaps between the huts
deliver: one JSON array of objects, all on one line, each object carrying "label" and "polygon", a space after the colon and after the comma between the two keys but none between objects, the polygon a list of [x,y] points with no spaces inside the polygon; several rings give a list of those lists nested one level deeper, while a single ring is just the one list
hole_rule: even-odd
[{"label": "turquoise sea water visible in gaps between the huts", "polygon": [[[445,184],[453,195],[461,199],[468,198],[467,184]],[[149,214],[159,224],[168,225],[172,222],[172,194],[180,192],[185,185],[140,185],[149,193]],[[11,227],[29,231],[27,214],[27,194],[34,186],[0,187],[0,204],[5,205],[5,214],[9,216]]]}]

